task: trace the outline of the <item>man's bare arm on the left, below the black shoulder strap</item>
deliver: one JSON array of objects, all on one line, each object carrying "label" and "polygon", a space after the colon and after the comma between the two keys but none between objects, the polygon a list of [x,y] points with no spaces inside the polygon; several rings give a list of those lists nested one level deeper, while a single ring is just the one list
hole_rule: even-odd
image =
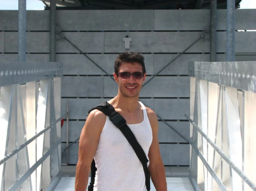
[{"label": "man's bare arm on the left, below the black shoulder strap", "polygon": [[86,119],[79,140],[75,191],[86,191],[87,189],[91,162],[97,150],[100,133],[105,121],[106,115],[98,110],[91,111]]}]

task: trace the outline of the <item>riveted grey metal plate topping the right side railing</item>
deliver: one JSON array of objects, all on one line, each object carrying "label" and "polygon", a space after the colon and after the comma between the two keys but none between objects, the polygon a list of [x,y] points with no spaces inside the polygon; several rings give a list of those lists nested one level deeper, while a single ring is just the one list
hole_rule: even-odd
[{"label": "riveted grey metal plate topping the right side railing", "polygon": [[190,62],[189,76],[256,92],[256,62]]}]

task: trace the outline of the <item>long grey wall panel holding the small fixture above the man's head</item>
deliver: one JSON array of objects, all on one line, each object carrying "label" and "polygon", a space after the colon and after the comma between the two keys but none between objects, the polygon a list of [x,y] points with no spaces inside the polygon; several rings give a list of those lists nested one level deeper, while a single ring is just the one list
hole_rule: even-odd
[{"label": "long grey wall panel holding the small fixture above the man's head", "polygon": [[[132,38],[131,52],[183,52],[202,32],[105,32],[104,51],[124,52],[123,38]],[[199,40],[187,52],[204,52],[204,39]]]}]

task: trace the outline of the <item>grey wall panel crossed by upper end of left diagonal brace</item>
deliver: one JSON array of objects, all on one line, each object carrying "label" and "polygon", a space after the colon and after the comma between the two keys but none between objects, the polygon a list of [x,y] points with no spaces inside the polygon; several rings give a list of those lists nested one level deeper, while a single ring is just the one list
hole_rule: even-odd
[{"label": "grey wall panel crossed by upper end of left diagonal brace", "polygon": [[[104,52],[104,32],[62,32],[62,34],[85,53]],[[57,35],[56,52],[78,53],[79,51],[68,41]]]}]

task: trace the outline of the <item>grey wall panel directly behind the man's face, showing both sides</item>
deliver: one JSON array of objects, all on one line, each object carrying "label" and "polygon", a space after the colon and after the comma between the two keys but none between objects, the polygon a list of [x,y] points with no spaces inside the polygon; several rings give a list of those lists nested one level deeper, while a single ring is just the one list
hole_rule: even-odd
[{"label": "grey wall panel directly behind the man's face, showing both sides", "polygon": [[[117,90],[117,83],[104,77],[104,97],[114,97]],[[189,77],[155,77],[142,88],[140,97],[189,97]]]}]

